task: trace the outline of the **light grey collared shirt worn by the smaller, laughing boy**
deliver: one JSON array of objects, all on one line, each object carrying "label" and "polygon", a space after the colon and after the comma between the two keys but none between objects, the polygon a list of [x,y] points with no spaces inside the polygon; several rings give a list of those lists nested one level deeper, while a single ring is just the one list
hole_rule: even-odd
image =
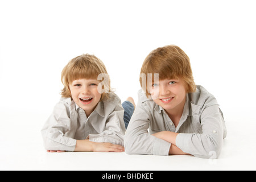
[{"label": "light grey collared shirt worn by the smaller, laughing boy", "polygon": [[109,142],[123,146],[125,124],[123,107],[116,94],[98,102],[93,113],[86,117],[71,98],[61,98],[42,129],[46,150],[74,151],[76,140],[89,137],[92,142]]}]

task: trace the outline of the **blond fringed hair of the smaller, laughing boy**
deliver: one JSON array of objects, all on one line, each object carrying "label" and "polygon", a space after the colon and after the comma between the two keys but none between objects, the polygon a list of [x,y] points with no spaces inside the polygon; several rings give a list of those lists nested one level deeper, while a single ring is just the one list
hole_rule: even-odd
[{"label": "blond fringed hair of the smaller, laughing boy", "polygon": [[102,75],[102,73],[108,76],[108,78],[104,77],[103,80],[104,86],[102,88],[105,89],[105,92],[101,95],[101,101],[108,99],[109,93],[113,92],[104,63],[94,55],[83,54],[75,57],[69,61],[61,72],[61,82],[64,85],[64,88],[61,90],[61,97],[72,98],[69,84],[74,80],[82,78],[98,80],[98,76]]}]

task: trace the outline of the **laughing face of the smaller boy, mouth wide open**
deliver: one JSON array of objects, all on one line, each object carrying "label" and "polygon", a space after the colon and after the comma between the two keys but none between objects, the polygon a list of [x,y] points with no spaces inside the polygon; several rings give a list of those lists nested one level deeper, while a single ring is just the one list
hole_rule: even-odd
[{"label": "laughing face of the smaller boy, mouth wide open", "polygon": [[97,87],[100,82],[93,79],[74,80],[69,84],[71,96],[76,104],[84,109],[85,114],[89,117],[101,99]]}]

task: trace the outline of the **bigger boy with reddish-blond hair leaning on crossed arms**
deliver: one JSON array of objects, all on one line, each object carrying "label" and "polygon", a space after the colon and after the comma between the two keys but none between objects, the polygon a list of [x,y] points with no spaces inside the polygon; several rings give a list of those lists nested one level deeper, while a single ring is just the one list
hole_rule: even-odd
[{"label": "bigger boy with reddish-blond hair leaning on crossed arms", "polygon": [[127,154],[220,155],[226,137],[222,112],[216,98],[195,85],[183,50],[166,46],[152,51],[140,82],[138,105],[125,134]]}]

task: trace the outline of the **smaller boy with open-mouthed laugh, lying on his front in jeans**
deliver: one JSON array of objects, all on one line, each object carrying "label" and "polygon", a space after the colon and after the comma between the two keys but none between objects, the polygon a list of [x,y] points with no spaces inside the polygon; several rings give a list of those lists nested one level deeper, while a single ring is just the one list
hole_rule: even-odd
[{"label": "smaller boy with open-mouthed laugh, lying on his front in jeans", "polygon": [[63,69],[61,81],[62,97],[42,129],[46,150],[124,151],[123,135],[133,114],[133,99],[123,103],[124,118],[104,63],[94,55],[77,56]]}]

